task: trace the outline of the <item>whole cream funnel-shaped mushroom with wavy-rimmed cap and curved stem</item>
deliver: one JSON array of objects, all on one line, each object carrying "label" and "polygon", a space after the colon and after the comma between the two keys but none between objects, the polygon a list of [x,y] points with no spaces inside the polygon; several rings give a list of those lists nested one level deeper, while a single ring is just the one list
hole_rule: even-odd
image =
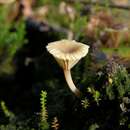
[{"label": "whole cream funnel-shaped mushroom with wavy-rimmed cap and curved stem", "polygon": [[74,85],[70,70],[87,55],[89,46],[74,40],[60,40],[49,43],[46,48],[63,69],[70,90],[79,97],[81,92]]}]

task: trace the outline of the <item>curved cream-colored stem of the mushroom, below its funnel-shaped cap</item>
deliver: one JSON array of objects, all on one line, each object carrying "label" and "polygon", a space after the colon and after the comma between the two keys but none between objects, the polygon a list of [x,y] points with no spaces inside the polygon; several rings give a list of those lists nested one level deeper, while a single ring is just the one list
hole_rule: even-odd
[{"label": "curved cream-colored stem of the mushroom, below its funnel-shaped cap", "polygon": [[73,83],[70,70],[64,70],[64,75],[65,75],[66,82],[67,82],[69,88],[71,89],[71,91],[72,91],[77,97],[79,97],[79,96],[80,96],[80,91],[76,88],[76,86],[75,86],[74,83]]}]

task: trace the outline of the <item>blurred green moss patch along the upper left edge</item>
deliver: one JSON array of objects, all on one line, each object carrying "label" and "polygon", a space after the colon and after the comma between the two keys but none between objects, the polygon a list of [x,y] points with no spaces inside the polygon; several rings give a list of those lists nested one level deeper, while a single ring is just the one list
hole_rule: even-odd
[{"label": "blurred green moss patch along the upper left edge", "polygon": [[12,60],[25,43],[25,22],[10,21],[8,6],[0,6],[0,73],[12,73]]}]

